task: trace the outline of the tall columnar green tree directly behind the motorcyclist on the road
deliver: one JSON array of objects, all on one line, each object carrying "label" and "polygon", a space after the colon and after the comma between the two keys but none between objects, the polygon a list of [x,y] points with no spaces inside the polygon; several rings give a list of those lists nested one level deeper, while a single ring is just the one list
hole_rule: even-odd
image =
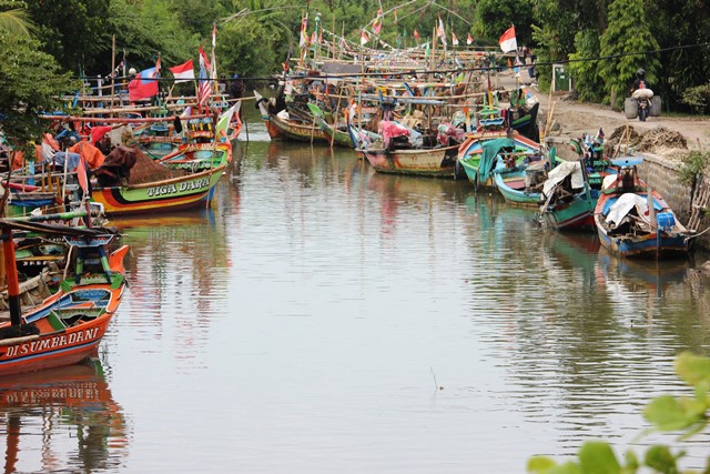
[{"label": "tall columnar green tree directly behind the motorcyclist on the road", "polygon": [[[633,54],[658,50],[651,34],[643,3],[637,0],[615,0],[609,6],[608,27],[601,36],[601,56],[618,56],[600,62],[600,72],[612,107],[620,107],[627,95],[636,71],[646,70],[646,80],[652,84],[660,63],[655,54]],[[631,53],[629,56],[625,56]]]}]

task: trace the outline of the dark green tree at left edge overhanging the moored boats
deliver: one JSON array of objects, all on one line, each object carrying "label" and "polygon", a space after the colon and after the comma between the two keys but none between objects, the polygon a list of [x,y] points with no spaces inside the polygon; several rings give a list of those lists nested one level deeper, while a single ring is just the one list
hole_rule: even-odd
[{"label": "dark green tree at left edge overhanging the moored boats", "polygon": [[0,129],[14,149],[40,137],[39,113],[62,109],[59,94],[77,85],[38,41],[0,33]]}]

